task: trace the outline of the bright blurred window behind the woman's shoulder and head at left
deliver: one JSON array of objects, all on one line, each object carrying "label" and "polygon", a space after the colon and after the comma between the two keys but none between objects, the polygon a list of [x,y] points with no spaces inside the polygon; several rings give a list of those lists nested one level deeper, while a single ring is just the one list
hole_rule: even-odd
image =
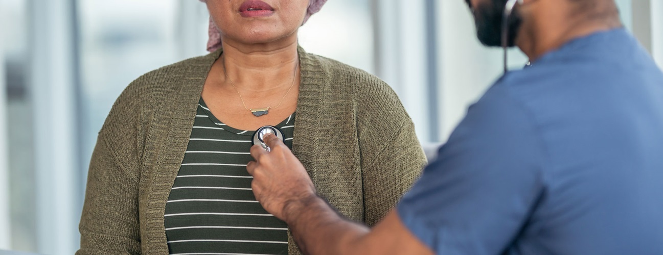
[{"label": "bright blurred window behind the woman's shoulder and head at left", "polygon": [[[113,102],[131,81],[207,53],[206,11],[194,0],[78,1],[83,166]],[[194,36],[182,38],[191,33],[185,30]],[[196,48],[182,50],[185,45]]]}]

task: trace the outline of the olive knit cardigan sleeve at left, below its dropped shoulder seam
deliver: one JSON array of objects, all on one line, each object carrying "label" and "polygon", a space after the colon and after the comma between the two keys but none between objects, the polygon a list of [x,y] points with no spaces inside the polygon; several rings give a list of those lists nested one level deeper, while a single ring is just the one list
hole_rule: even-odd
[{"label": "olive knit cardigan sleeve at left, below its dropped shoulder seam", "polygon": [[92,154],[79,229],[77,255],[141,254],[138,180],[115,163],[103,137]]}]

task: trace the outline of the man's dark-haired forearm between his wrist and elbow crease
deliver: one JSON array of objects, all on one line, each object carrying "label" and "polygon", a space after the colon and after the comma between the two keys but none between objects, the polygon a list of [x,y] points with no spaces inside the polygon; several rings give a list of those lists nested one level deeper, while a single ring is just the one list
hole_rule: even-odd
[{"label": "man's dark-haired forearm between his wrist and elbow crease", "polygon": [[369,228],[343,219],[318,196],[286,205],[284,215],[304,254],[365,254],[357,246]]}]

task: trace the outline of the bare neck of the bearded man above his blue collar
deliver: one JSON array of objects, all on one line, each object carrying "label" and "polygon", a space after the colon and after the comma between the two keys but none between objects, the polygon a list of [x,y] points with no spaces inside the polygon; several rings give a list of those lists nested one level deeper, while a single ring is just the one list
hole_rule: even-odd
[{"label": "bare neck of the bearded man above his blue collar", "polygon": [[525,1],[516,45],[530,61],[580,38],[622,27],[613,0]]}]

